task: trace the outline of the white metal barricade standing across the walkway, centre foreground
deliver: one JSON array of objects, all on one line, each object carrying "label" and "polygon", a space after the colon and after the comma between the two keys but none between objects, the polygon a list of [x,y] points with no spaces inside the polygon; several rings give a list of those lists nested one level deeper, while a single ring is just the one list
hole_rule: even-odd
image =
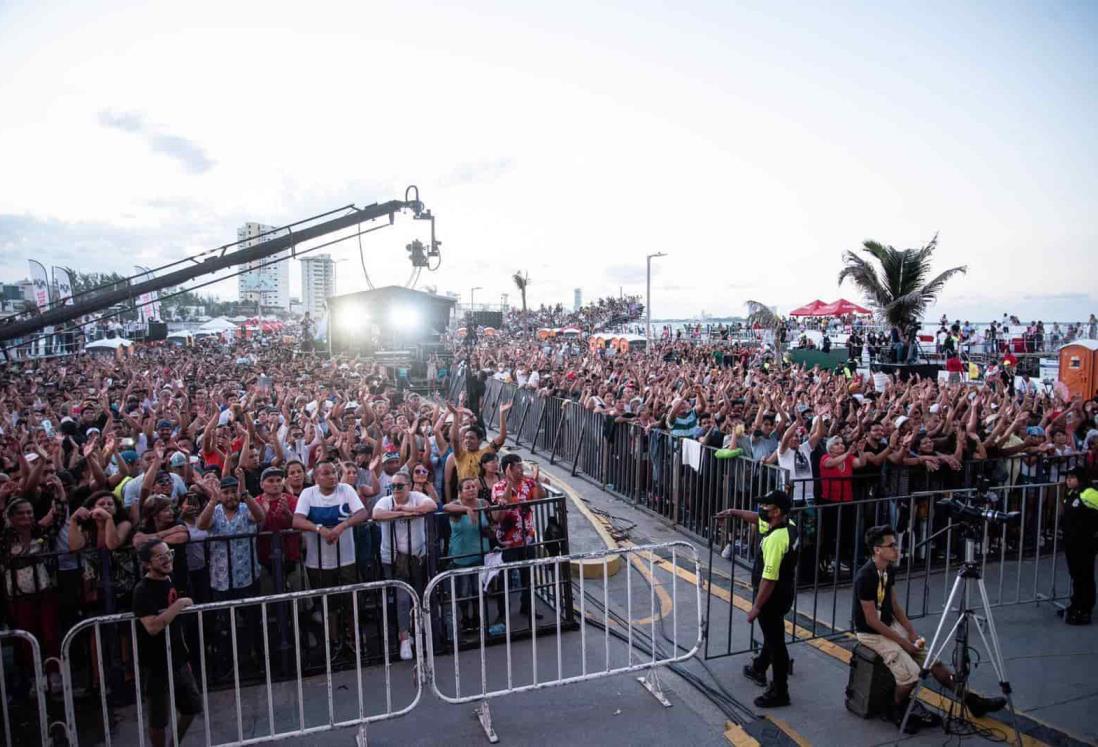
[{"label": "white metal barricade standing across the walkway, centre foreground", "polygon": [[[609,564],[615,558],[625,561],[624,573],[610,572]],[[680,561],[693,572],[693,581],[664,570],[666,564],[676,569]],[[512,572],[545,569],[557,590],[554,599],[563,600],[560,590],[568,584],[568,569],[573,562],[581,567],[593,565],[595,570],[578,573],[579,629],[568,631],[563,614],[567,603],[539,607],[535,584],[525,588],[522,583],[514,584]],[[502,588],[493,592],[494,575],[501,579]],[[693,600],[680,591],[681,586],[687,587]],[[620,601],[624,592],[624,615],[612,611],[612,592],[616,601]],[[544,609],[552,614],[548,635],[544,626],[531,623],[530,614],[525,621],[516,621],[512,614],[515,593],[519,601],[528,594],[531,612]],[[450,629],[458,629],[459,605],[471,602],[483,622],[493,595],[502,595],[504,604],[504,614],[496,625],[478,626],[464,645],[446,650],[435,647],[437,636],[430,627],[437,624],[436,621],[445,621]],[[680,613],[681,602],[687,609],[693,603],[693,614]],[[696,550],[685,542],[534,558],[492,568],[455,568],[427,584],[424,609],[432,690],[448,703],[479,702],[478,717],[493,743],[497,737],[489,701],[501,695],[647,671],[648,676],[638,680],[669,705],[654,670],[692,658],[701,648],[703,637],[701,569]],[[665,616],[671,618],[670,633]],[[519,657],[524,664],[528,657],[528,671],[525,666],[516,666]],[[452,688],[448,687],[451,682]]]}]

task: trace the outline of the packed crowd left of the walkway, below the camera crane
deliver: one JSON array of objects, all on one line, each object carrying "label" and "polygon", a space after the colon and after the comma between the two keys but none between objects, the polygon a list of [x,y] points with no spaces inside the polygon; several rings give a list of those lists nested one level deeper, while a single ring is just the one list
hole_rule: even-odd
[{"label": "packed crowd left of the walkway, below the camera crane", "polygon": [[[133,611],[152,667],[143,682],[163,688],[163,631],[192,603],[379,579],[422,591],[430,573],[489,553],[527,557],[545,540],[546,505],[524,504],[545,493],[517,456],[497,458],[508,409],[501,435],[484,442],[472,413],[405,391],[381,366],[258,339],[11,365],[0,379],[0,623],[56,657],[81,620]],[[511,583],[520,599],[511,610],[533,620],[526,583]],[[309,653],[325,636],[337,659],[358,650],[348,599],[334,597],[325,614],[304,605]],[[403,659],[413,657],[410,602],[397,594],[390,615]],[[262,670],[258,615],[239,609],[235,642],[227,614],[208,616],[212,681]],[[473,615],[466,600],[463,623],[479,625]],[[184,616],[170,627],[183,643],[171,649],[186,713],[197,626]],[[104,646],[117,653],[125,638]],[[92,651],[75,656],[77,691],[96,687]],[[26,687],[33,670],[21,671]],[[48,683],[59,691],[57,671]],[[165,714],[155,703],[161,732]]]}]

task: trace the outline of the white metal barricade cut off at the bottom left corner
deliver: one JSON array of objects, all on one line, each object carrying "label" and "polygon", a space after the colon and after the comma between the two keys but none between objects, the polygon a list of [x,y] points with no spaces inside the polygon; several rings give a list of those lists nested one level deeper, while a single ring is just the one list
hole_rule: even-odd
[{"label": "white metal barricade cut off at the bottom left corner", "polygon": [[[29,656],[19,654],[18,642],[26,646]],[[11,672],[8,669],[5,647],[12,653]],[[30,672],[24,669],[27,658],[31,659]],[[13,685],[19,691],[13,691]],[[3,744],[48,744],[49,714],[46,711],[42,648],[37,638],[26,631],[0,631],[0,709],[3,710]]]}]

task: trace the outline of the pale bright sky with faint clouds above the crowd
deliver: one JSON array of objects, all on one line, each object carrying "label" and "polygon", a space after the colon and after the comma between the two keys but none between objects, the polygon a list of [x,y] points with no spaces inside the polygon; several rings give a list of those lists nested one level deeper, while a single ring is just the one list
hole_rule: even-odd
[{"label": "pale bright sky with faint clouds above the crowd", "polygon": [[[837,278],[863,241],[937,233],[968,271],[932,313],[1085,319],[1096,32],[1096,2],[0,0],[0,279],[414,183],[442,241],[418,287],[462,301],[517,303],[516,270],[531,305],[643,294],[664,252],[653,317],[784,312],[860,300]],[[363,236],[373,283],[426,237]],[[355,241],[324,250],[366,287]]]}]

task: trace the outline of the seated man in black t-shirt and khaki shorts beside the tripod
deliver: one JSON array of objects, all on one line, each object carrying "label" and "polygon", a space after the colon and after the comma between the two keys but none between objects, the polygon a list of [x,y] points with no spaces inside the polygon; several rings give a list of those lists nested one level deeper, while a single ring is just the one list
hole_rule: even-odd
[{"label": "seated man in black t-shirt and khaki shorts beside the tripod", "polygon": [[[858,642],[876,651],[896,678],[892,717],[897,725],[907,712],[908,698],[926,666],[926,640],[919,637],[896,597],[893,564],[899,559],[896,533],[890,526],[874,526],[865,533],[866,548],[873,557],[854,576],[852,616]],[[956,690],[953,673],[941,661],[930,666],[930,673],[942,687]],[[964,704],[974,716],[998,711],[1007,704],[1004,698],[983,698],[974,692],[964,694]],[[920,726],[938,726],[941,718],[916,703],[908,718],[907,731]]]}]

